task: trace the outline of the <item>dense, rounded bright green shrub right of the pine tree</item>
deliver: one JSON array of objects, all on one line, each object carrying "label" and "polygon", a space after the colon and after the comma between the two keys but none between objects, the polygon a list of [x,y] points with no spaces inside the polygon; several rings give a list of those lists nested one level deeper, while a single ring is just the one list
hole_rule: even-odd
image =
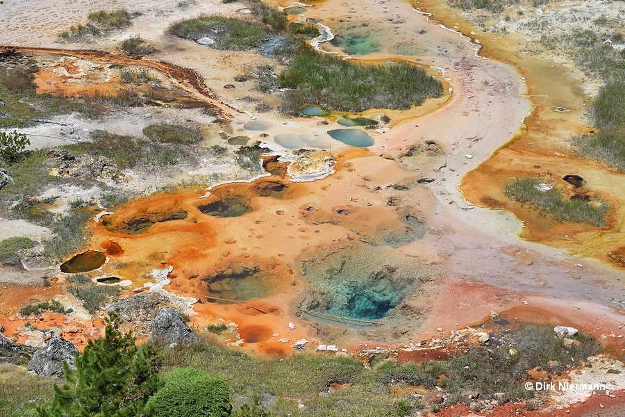
[{"label": "dense, rounded bright green shrub right of the pine tree", "polygon": [[177,368],[163,377],[149,400],[154,417],[228,417],[230,391],[223,379],[203,370]]}]

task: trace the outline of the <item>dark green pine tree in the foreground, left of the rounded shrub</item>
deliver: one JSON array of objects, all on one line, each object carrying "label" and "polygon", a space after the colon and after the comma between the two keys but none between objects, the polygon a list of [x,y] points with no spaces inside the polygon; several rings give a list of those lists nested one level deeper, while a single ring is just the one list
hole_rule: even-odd
[{"label": "dark green pine tree in the foreground, left of the rounded shrub", "polygon": [[158,357],[151,345],[135,346],[132,332],[122,333],[119,312],[110,312],[104,337],[90,340],[69,369],[65,383],[54,386],[40,417],[139,417],[149,416],[148,398],[159,386]]}]

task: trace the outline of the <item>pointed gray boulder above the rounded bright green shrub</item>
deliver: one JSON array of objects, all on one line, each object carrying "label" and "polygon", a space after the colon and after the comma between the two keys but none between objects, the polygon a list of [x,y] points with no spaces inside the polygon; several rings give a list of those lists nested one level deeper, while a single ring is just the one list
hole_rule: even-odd
[{"label": "pointed gray boulder above the rounded bright green shrub", "polygon": [[194,334],[174,309],[160,309],[151,327],[150,343],[158,346],[206,345],[206,341]]}]

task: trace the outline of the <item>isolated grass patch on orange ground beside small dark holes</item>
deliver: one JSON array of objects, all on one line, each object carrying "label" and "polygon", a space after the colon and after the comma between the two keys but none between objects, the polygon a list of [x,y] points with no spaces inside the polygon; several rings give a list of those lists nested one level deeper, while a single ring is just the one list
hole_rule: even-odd
[{"label": "isolated grass patch on orange ground beside small dark holes", "polygon": [[[539,184],[547,183],[552,188],[542,191]],[[549,176],[515,178],[506,184],[506,197],[549,215],[560,222],[587,223],[603,227],[610,206],[597,196],[594,202],[565,199],[562,190],[553,184]]]}]

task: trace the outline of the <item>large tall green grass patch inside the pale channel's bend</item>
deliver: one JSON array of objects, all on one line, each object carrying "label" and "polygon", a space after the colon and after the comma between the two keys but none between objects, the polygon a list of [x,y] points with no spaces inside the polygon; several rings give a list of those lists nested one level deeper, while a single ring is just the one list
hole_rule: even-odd
[{"label": "large tall green grass patch inside the pale channel's bend", "polygon": [[292,89],[284,93],[287,113],[299,113],[304,104],[353,113],[368,108],[406,110],[443,92],[440,81],[415,65],[363,65],[311,49],[290,61],[278,85]]}]

